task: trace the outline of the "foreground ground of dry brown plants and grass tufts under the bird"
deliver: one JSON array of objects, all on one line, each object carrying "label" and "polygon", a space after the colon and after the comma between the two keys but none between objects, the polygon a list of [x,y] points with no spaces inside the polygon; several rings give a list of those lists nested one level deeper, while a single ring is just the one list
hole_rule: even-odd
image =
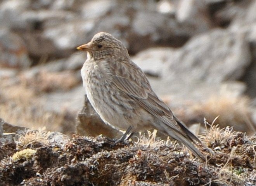
[{"label": "foreground ground of dry brown plants and grass tufts under the bird", "polygon": [[[205,121],[205,124],[208,124]],[[40,140],[38,140],[40,139]],[[0,183],[3,185],[93,186],[253,186],[256,184],[256,136],[211,125],[201,136],[211,154],[201,148],[201,162],[185,147],[159,140],[156,131],[129,145],[104,136],[74,135],[66,145],[47,142],[47,133],[26,133],[16,144],[0,144]],[[45,141],[38,143],[38,141]],[[37,144],[37,145],[35,145]],[[29,158],[14,161],[28,149]],[[31,151],[32,150],[32,151]],[[36,151],[34,153],[34,150]],[[0,156],[1,157],[1,156]],[[22,156],[21,156],[22,157]]]}]

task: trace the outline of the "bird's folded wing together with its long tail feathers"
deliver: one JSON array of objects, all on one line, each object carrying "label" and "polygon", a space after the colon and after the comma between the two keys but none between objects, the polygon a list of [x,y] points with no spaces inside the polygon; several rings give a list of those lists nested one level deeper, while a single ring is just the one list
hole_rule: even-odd
[{"label": "bird's folded wing together with its long tail feathers", "polygon": [[[162,121],[165,126],[152,123],[156,129],[168,134],[175,140],[186,145],[197,157],[205,160],[201,152],[191,142],[201,141],[187,129],[171,112],[170,108],[152,90],[149,81],[142,70],[133,62],[126,64],[112,65],[110,71],[112,83],[127,96],[130,96],[147,112]],[[128,70],[129,69],[129,70]],[[168,129],[169,128],[169,129]],[[171,130],[170,130],[171,129]]]}]

